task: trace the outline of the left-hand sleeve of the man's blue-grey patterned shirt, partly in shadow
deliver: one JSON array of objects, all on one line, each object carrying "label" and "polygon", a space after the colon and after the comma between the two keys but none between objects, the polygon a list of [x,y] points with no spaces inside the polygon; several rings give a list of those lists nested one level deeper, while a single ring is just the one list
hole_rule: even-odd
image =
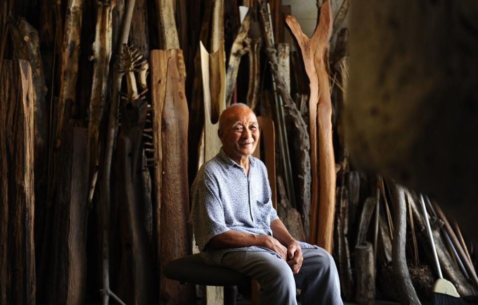
[{"label": "left-hand sleeve of the man's blue-grey patterned shirt, partly in shadow", "polygon": [[211,238],[229,230],[224,220],[224,209],[217,185],[207,175],[197,179],[191,189],[190,222],[199,250],[205,251]]}]

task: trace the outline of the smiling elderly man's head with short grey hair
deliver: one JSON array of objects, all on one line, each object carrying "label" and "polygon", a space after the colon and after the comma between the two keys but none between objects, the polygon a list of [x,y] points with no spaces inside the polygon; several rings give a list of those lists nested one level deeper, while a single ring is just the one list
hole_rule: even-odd
[{"label": "smiling elderly man's head with short grey hair", "polygon": [[224,151],[234,160],[239,160],[254,152],[259,141],[259,124],[255,114],[248,108],[235,107],[228,110],[218,135]]}]

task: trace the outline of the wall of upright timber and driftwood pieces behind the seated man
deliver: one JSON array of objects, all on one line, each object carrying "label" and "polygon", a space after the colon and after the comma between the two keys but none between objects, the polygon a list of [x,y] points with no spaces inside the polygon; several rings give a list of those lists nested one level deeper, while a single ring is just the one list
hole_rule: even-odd
[{"label": "wall of upright timber and driftwood pieces behind the seated man", "polygon": [[[161,270],[194,251],[189,187],[237,102],[261,117],[279,217],[334,255],[344,300],[430,298],[417,195],[344,146],[349,1],[319,2],[308,38],[281,0],[0,0],[0,303],[222,304]],[[474,295],[474,248],[429,214]]]}]

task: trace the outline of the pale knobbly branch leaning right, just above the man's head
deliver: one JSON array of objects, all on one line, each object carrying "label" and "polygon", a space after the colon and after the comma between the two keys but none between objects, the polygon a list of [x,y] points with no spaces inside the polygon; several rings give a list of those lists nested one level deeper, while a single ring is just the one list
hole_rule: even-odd
[{"label": "pale knobbly branch leaning right, just above the man's head", "polygon": [[250,39],[247,37],[250,22],[254,15],[254,9],[250,8],[240,24],[238,34],[234,39],[229,55],[228,70],[226,74],[226,106],[231,105],[236,78],[238,78],[239,63],[242,55],[246,54],[250,48]]}]

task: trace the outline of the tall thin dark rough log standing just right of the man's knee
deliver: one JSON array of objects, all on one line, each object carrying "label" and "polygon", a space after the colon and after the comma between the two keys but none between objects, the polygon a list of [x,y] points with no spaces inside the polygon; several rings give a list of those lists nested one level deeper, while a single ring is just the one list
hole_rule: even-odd
[{"label": "tall thin dark rough log standing just right of the man's knee", "polygon": [[354,280],[352,278],[352,269],[350,264],[349,250],[349,192],[346,186],[337,188],[337,202],[340,203],[339,215],[337,217],[338,249],[339,253],[339,272],[340,287],[345,300],[352,299],[352,288]]}]

